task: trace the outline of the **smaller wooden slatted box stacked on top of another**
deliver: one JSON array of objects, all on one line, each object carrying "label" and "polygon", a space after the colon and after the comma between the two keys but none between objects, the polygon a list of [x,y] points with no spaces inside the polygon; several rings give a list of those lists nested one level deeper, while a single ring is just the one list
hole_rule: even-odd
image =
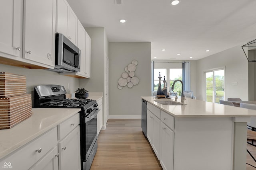
[{"label": "smaller wooden slatted box stacked on top of another", "polygon": [[0,98],[26,94],[26,76],[0,72]]}]

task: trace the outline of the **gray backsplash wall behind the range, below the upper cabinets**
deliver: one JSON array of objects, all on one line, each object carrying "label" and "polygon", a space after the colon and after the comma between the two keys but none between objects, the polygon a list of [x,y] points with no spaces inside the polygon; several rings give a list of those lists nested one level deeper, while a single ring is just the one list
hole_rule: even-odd
[{"label": "gray backsplash wall behind the range, below the upper cabinets", "polygon": [[[43,84],[57,84],[66,88],[67,93],[74,93],[78,88],[78,78],[72,78],[42,69],[28,69],[0,64],[0,72],[9,72],[26,76],[26,94],[34,94],[34,86]],[[67,84],[70,84],[68,89]],[[32,96],[33,98],[33,96]],[[32,101],[33,103],[33,101]]]}]

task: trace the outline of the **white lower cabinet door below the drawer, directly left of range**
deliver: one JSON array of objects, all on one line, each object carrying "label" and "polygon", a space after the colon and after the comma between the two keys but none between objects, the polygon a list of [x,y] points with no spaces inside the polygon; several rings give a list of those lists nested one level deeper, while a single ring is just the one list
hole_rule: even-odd
[{"label": "white lower cabinet door below the drawer, directly left of range", "polygon": [[58,143],[58,149],[60,170],[81,169],[79,126]]}]

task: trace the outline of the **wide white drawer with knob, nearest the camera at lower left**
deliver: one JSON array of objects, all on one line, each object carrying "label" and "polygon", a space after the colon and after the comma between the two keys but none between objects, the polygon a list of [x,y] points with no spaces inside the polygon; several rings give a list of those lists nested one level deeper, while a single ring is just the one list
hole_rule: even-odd
[{"label": "wide white drawer with knob, nearest the camera at lower left", "polygon": [[4,162],[10,162],[13,169],[28,170],[56,145],[57,127],[41,135],[21,149],[18,149],[18,151],[10,156],[2,159],[0,164],[2,166]]}]

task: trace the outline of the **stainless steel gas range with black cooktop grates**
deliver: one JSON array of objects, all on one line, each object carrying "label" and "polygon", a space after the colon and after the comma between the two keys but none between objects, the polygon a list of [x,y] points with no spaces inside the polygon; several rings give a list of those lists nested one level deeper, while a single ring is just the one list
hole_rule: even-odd
[{"label": "stainless steel gas range with black cooktop grates", "polygon": [[80,149],[81,170],[90,170],[97,150],[98,104],[91,99],[66,99],[66,90],[60,85],[41,85],[34,88],[34,107],[81,108]]}]

